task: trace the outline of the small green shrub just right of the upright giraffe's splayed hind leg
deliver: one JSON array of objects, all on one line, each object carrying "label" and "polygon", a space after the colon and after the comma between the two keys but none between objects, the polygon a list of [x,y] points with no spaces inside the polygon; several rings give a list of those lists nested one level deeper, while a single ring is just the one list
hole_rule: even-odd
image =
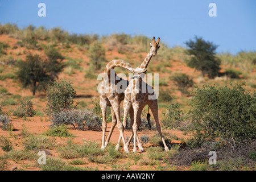
[{"label": "small green shrub just right of the upright giraffe's splayed hind leg", "polygon": [[162,126],[166,129],[172,129],[176,127],[180,127],[181,121],[183,121],[184,113],[180,109],[178,103],[170,103],[170,105],[166,108],[167,111],[164,114],[164,118],[162,120]]}]

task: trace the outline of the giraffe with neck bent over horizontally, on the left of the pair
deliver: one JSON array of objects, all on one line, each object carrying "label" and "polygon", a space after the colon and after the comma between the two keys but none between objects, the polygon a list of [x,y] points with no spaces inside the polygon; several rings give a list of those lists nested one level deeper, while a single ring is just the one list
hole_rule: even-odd
[{"label": "giraffe with neck bent over horizontally, on the left of the pair", "polygon": [[[117,125],[123,142],[125,142],[123,136],[123,125],[120,121],[120,109],[119,105],[124,95],[124,90],[126,89],[129,82],[125,79],[118,77],[115,74],[114,68],[122,67],[129,70],[132,73],[141,73],[137,71],[142,71],[143,69],[134,69],[129,63],[123,60],[112,60],[110,61],[104,70],[103,81],[98,85],[98,91],[100,92],[100,106],[102,110],[102,145],[101,149],[108,145],[109,139],[112,135],[115,125]],[[112,78],[113,77],[113,78]],[[119,85],[119,87],[118,87]],[[105,142],[106,133],[106,108],[110,106],[112,113],[112,127],[110,129],[108,138]],[[126,145],[123,146],[125,152],[129,152]]]}]

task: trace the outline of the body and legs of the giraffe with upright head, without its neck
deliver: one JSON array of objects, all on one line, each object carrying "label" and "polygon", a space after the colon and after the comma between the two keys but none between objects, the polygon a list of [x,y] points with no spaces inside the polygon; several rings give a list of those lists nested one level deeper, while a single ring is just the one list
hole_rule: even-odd
[{"label": "body and legs of the giraffe with upright head, without its neck", "polygon": [[[146,71],[144,71],[146,72]],[[138,127],[141,125],[141,113],[144,108],[144,106],[148,105],[151,108],[152,114],[154,115],[155,118],[155,123],[156,123],[156,130],[158,130],[158,133],[160,134],[160,137],[162,139],[162,142],[164,144],[164,150],[168,151],[168,147],[166,145],[166,142],[164,141],[162,132],[161,132],[161,127],[159,124],[159,118],[158,118],[158,100],[156,98],[154,89],[152,86],[146,84],[142,80],[142,77],[144,76],[144,73],[138,74],[135,73],[135,75],[131,78],[130,84],[127,86],[125,90],[125,100],[123,101],[123,109],[124,109],[124,115],[123,115],[123,126],[126,126],[127,122],[127,114],[128,110],[130,110],[131,107],[133,107],[134,110],[134,117],[133,121],[131,120],[131,125],[133,126],[133,133],[131,134],[130,139],[134,135],[134,148],[133,152],[137,151],[136,148],[136,139],[138,140],[138,147],[139,150],[143,151],[143,147],[141,142],[139,141],[139,137],[137,134]],[[144,87],[144,88],[143,88]],[[143,89],[146,88],[146,93],[143,93]],[[152,99],[149,99],[152,98]],[[129,145],[129,141],[125,144],[126,146]],[[118,144],[120,143],[120,137],[118,140]]]}]

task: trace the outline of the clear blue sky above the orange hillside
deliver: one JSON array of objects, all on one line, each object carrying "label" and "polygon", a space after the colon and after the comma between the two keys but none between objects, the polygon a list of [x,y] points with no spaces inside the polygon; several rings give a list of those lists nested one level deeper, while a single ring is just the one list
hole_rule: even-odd
[{"label": "clear blue sky above the orange hillside", "polygon": [[[46,4],[46,17],[38,4]],[[210,17],[209,3],[217,16]],[[217,52],[256,51],[255,0],[0,0],[0,23],[61,27],[71,33],[122,33],[160,37],[185,46],[195,35],[217,44]]]}]

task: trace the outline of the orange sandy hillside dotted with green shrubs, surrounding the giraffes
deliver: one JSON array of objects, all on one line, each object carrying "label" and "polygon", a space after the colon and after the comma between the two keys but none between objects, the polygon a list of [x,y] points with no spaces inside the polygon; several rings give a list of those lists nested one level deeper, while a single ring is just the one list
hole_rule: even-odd
[{"label": "orange sandy hillside dotted with green shrubs, surrounding the giraffes", "polygon": [[[115,151],[111,142],[105,150],[100,148],[102,117],[96,79],[106,57],[108,61],[124,59],[138,65],[150,49],[151,38],[125,33],[101,37],[69,34],[59,27],[18,28],[10,23],[0,24],[0,36],[0,170],[12,169],[11,160],[18,167],[14,170],[255,170],[255,51],[217,54],[217,46],[202,38],[188,41],[187,48],[168,47],[161,39],[147,72],[160,73],[159,120],[170,151],[164,152],[152,115],[151,127],[148,125],[146,107],[139,127],[146,152],[133,153],[129,148],[130,154],[125,154],[122,147]],[[197,49],[200,47],[204,48]],[[36,96],[27,96],[16,74],[28,61],[36,68],[30,69],[34,75],[24,77],[34,78],[39,68],[41,73],[48,71],[46,80],[36,82]],[[58,75],[69,80],[58,80]],[[33,92],[32,85],[26,88]],[[122,109],[121,104],[121,120]],[[38,116],[33,117],[35,113]],[[112,121],[110,107],[106,119]],[[130,133],[130,117],[127,125]],[[94,130],[92,133],[100,139],[88,137],[87,130]],[[37,163],[38,151],[46,152],[46,165]],[[217,152],[217,164],[208,164],[209,151]]]}]

